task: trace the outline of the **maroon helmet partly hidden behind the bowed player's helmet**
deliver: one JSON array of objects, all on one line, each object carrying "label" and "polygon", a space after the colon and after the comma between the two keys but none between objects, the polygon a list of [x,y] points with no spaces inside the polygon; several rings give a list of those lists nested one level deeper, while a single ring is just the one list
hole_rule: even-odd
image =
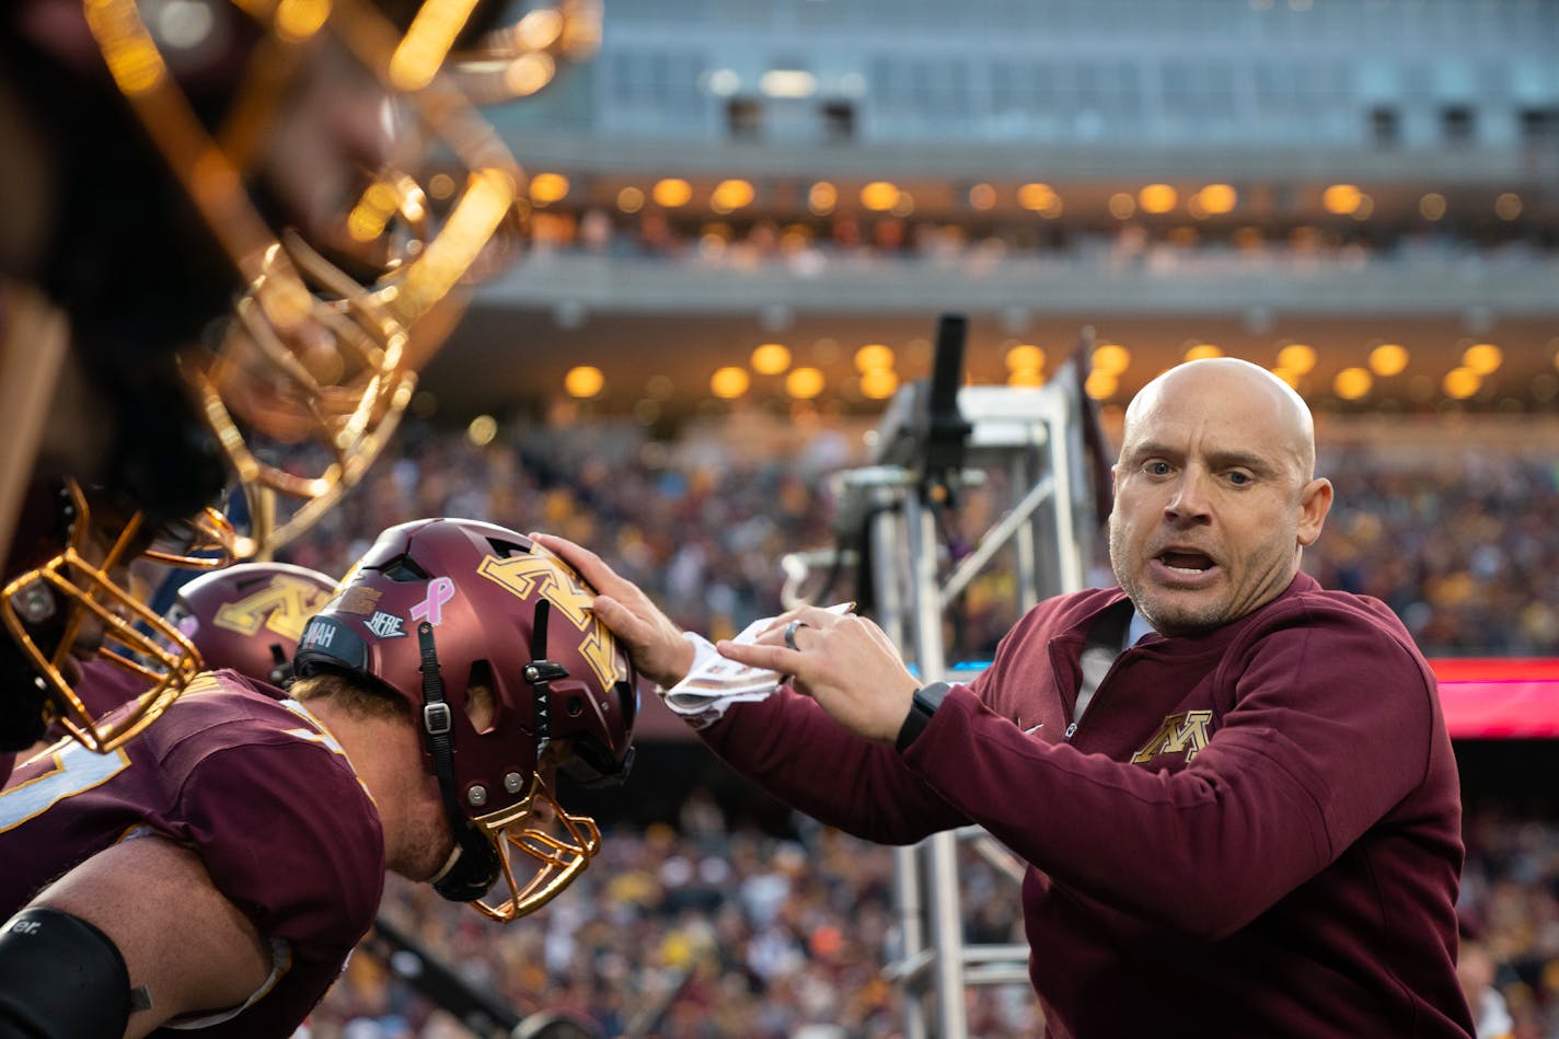
[{"label": "maroon helmet partly hidden behind the bowed player's helmet", "polygon": [[165,619],[195,644],[206,669],[287,686],[302,626],[334,594],[335,582],[307,566],[235,563],[182,585]]}]

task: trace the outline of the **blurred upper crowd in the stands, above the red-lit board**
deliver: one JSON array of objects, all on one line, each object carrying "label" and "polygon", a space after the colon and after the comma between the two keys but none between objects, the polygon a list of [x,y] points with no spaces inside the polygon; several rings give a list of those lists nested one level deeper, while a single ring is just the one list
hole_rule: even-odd
[{"label": "blurred upper crowd in the stands, above the red-lit board", "polygon": [[[399,445],[282,559],[340,576],[380,529],[435,515],[549,530],[592,546],[711,637],[780,612],[780,557],[836,540],[826,474],[864,463],[842,435],[753,462],[633,423],[535,423],[483,446],[408,423]],[[1476,443],[1392,454],[1322,438],[1317,471],[1338,491],[1305,555],[1322,583],[1389,604],[1430,657],[1559,654],[1559,463]],[[967,498],[954,552],[995,520],[988,498]],[[1091,580],[1105,583],[1102,544],[1096,555]],[[1012,619],[977,588],[965,612],[960,649],[973,655]]]}]

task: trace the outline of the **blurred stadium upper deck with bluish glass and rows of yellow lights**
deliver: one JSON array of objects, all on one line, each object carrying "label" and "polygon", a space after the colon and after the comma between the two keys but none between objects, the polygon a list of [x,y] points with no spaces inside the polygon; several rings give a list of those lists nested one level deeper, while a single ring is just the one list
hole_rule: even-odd
[{"label": "blurred stadium upper deck with bluish glass and rows of yellow lights", "polygon": [[1550,0],[644,0],[493,119],[539,248],[429,371],[472,409],[594,367],[616,413],[717,412],[720,368],[871,412],[856,353],[918,378],[939,310],[992,381],[1094,326],[1135,359],[1116,402],[1204,345],[1311,346],[1317,406],[1559,393]]}]

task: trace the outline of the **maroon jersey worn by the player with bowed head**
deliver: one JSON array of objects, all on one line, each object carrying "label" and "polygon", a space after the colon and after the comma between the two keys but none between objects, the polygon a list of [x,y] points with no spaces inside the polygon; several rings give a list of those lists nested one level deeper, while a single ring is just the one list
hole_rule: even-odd
[{"label": "maroon jersey worn by the player with bowed head", "polygon": [[292,1034],[384,889],[379,813],[335,739],[271,686],[218,671],[115,754],[56,744],[0,793],[0,919],[147,833],[195,849],[274,950],[270,988],[200,1034]]}]

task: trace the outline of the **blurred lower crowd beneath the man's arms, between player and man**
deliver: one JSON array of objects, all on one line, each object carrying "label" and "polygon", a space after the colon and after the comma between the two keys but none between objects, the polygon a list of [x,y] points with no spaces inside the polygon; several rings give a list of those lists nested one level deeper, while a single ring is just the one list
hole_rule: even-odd
[{"label": "blurred lower crowd beneath the man's arms, between player and man", "polygon": [[[962,877],[971,941],[1021,942],[1013,885],[974,856]],[[589,872],[530,927],[486,927],[399,880],[384,913],[519,1014],[567,1014],[605,1036],[843,1039],[901,1034],[882,978],[892,883],[892,849],[820,827],[733,825],[695,793],[672,822],[608,830]],[[1038,1031],[1021,981],[973,989],[968,1012],[971,1034]],[[310,1033],[466,1034],[366,956],[352,958]]]}]

